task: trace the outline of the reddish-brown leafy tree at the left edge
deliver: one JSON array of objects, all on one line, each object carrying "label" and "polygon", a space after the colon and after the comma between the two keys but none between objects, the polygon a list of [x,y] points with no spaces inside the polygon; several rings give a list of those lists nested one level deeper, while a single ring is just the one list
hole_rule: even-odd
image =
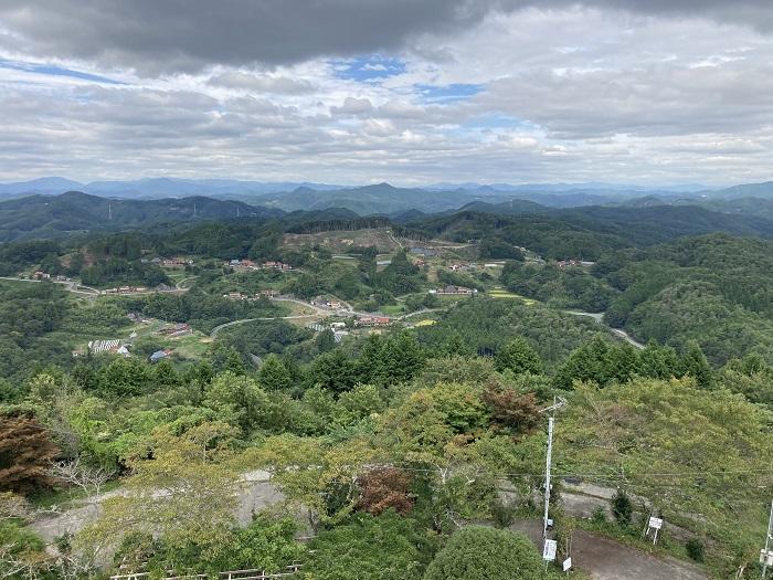
[{"label": "reddish-brown leafy tree at the left edge", "polygon": [[53,483],[59,450],[49,431],[23,412],[0,414],[0,492],[29,493]]}]

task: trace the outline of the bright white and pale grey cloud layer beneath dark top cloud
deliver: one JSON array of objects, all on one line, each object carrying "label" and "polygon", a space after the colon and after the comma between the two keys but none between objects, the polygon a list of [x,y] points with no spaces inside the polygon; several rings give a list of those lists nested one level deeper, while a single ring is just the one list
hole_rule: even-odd
[{"label": "bright white and pale grey cloud layer beneath dark top cloud", "polygon": [[[322,56],[162,74],[77,54],[45,61],[121,85],[0,66],[0,180],[770,177],[771,36],[689,11],[673,19],[594,4],[557,1],[552,10],[491,12],[453,32],[416,31],[386,54],[404,72],[371,82],[343,78],[346,67]],[[0,59],[43,63],[39,49],[11,50],[8,38],[0,31]],[[417,88],[454,84],[483,91],[427,104]]]}]

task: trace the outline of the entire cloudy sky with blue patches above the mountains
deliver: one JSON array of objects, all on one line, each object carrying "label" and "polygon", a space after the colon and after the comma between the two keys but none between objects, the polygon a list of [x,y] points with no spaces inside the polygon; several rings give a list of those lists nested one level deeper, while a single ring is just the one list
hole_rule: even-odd
[{"label": "entire cloudy sky with blue patches above the mountains", "polygon": [[0,0],[0,181],[771,167],[771,0]]}]

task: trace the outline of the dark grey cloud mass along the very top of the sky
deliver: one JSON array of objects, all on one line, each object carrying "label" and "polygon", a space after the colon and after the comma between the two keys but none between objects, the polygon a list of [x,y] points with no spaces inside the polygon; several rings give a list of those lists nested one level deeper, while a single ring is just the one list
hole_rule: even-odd
[{"label": "dark grey cloud mass along the very top of the sky", "polygon": [[[581,0],[645,14],[708,17],[773,29],[770,0]],[[1,28],[39,57],[96,61],[144,74],[213,64],[268,65],[404,46],[466,30],[491,11],[575,0],[3,0]]]}]

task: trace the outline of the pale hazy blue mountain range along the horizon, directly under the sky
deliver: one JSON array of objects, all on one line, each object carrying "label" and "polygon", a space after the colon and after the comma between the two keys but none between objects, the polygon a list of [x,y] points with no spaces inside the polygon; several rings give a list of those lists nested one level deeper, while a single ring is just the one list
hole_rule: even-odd
[{"label": "pale hazy blue mountain range along the horizon, directly under the sky", "polygon": [[620,183],[434,183],[422,188],[400,188],[389,183],[345,187],[293,181],[244,181],[232,179],[150,178],[134,181],[93,181],[46,177],[18,183],[0,183],[0,200],[28,194],[60,194],[82,191],[99,197],[124,199],[165,199],[203,196],[237,200],[284,211],[347,208],[361,215],[411,210],[440,212],[466,203],[502,203],[512,199],[532,201],[550,208],[610,205],[648,199],[650,204],[682,203],[685,200],[773,200],[773,181],[707,188],[698,183],[646,187]]}]

